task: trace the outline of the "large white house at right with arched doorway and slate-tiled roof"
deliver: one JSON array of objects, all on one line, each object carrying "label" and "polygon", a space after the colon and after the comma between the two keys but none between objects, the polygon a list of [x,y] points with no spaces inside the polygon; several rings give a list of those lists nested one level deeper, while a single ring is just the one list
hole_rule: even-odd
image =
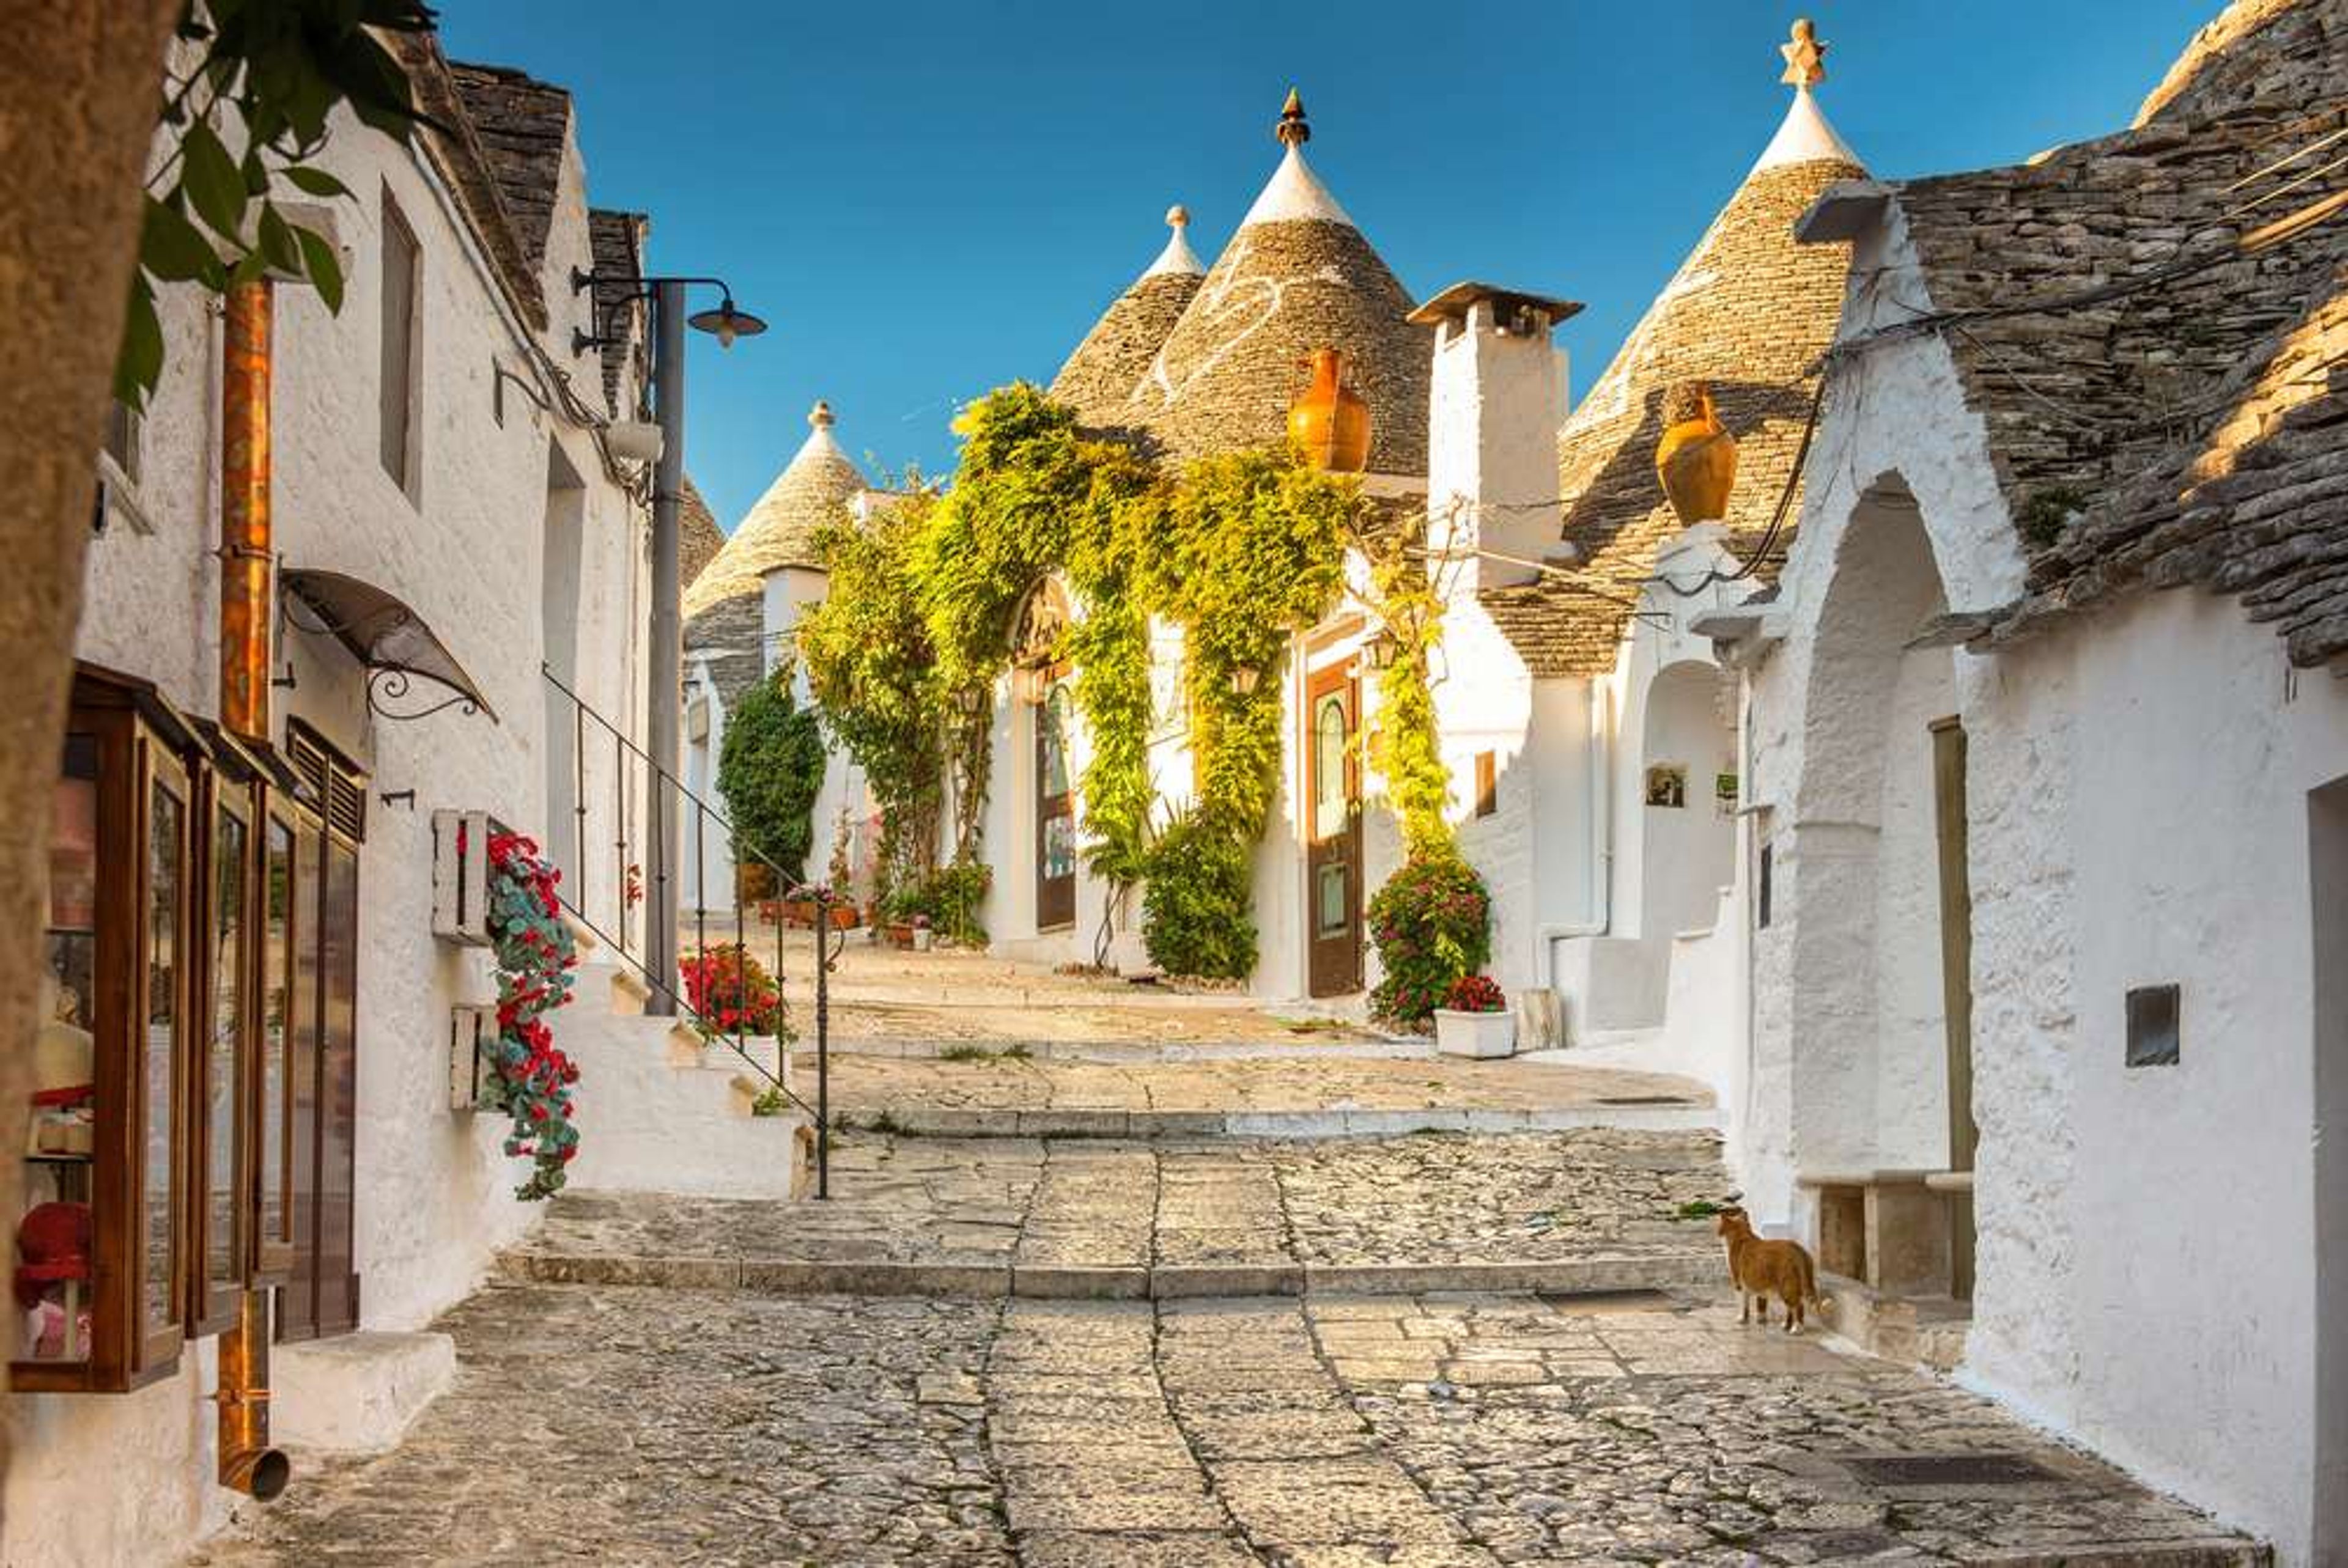
[{"label": "large white house at right with arched doorway and slate-tiled roof", "polygon": [[[1747,1199],[1834,1324],[2348,1561],[2348,5],[1855,246],[1749,669]],[[2327,150],[2329,146],[2329,150]]]}]

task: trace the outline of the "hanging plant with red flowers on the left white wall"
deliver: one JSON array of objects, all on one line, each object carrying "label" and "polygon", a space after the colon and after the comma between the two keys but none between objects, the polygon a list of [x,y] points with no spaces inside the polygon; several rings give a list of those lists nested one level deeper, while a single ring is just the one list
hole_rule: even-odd
[{"label": "hanging plant with red flowers on the left white wall", "polygon": [[578,953],[554,883],[561,873],[521,833],[488,836],[488,941],[498,955],[495,1075],[481,1103],[514,1117],[505,1153],[531,1160],[514,1188],[524,1202],[554,1197],[578,1155],[571,1084],[580,1070],[554,1049],[545,1014],[571,1000]]}]

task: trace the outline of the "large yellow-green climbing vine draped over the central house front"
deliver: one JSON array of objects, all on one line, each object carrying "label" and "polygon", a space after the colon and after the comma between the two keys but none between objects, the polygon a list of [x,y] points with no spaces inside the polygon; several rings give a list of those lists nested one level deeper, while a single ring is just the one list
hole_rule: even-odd
[{"label": "large yellow-green climbing vine draped over the central house front", "polygon": [[[1050,650],[1026,653],[1075,667],[1089,737],[1078,782],[1085,857],[1111,885],[1111,918],[1148,883],[1143,939],[1158,962],[1247,974],[1247,864],[1280,779],[1280,674],[1289,638],[1343,587],[1357,488],[1287,451],[1169,472],[1087,437],[1073,408],[1028,383],[970,404],[956,434],[963,448],[942,495],[831,540],[829,599],[801,629],[829,732],[876,786],[904,796],[890,810],[899,833],[927,826],[930,859],[897,854],[890,866],[935,871],[949,782],[953,861],[977,861],[989,692],[1021,653],[1021,603],[1059,577],[1073,615]],[[1183,636],[1197,758],[1197,800],[1172,824],[1158,822],[1151,782],[1158,624]],[[1097,953],[1108,937],[1104,922]]]}]

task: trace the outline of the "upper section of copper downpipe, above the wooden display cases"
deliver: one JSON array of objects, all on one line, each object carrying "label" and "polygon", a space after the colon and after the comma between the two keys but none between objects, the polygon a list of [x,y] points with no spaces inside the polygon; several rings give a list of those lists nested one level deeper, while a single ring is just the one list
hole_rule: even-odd
[{"label": "upper section of copper downpipe, above the wooden display cases", "polygon": [[270,737],[270,333],[268,277],[228,291],[221,376],[221,723]]}]

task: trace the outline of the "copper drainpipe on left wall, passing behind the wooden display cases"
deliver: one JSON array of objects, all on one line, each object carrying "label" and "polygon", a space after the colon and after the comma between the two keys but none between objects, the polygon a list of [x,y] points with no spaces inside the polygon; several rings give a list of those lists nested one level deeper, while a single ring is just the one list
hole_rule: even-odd
[{"label": "copper drainpipe on left wall, passing behind the wooden display cases", "polygon": [[[258,277],[228,293],[221,354],[221,723],[270,737],[270,305]],[[268,1502],[294,1465],[270,1446],[270,1298],[244,1291],[221,1336],[221,1486]]]}]

